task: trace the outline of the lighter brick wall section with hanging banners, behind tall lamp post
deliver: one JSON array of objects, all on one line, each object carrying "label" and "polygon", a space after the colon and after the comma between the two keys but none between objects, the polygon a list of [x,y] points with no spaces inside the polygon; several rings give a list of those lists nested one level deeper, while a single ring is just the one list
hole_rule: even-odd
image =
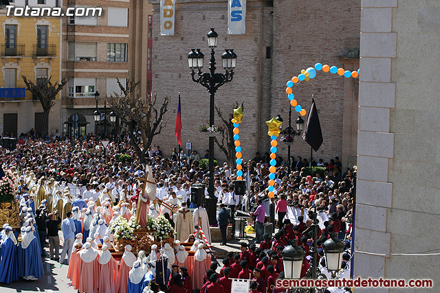
[{"label": "lighter brick wall section with hanging banners, behind tall lamp post", "polygon": [[[232,48],[238,55],[237,66],[232,82],[219,88],[215,95],[215,104],[224,114],[232,113],[235,101],[245,100],[245,117],[240,126],[240,139],[244,158],[254,156],[257,150],[257,133],[259,124],[264,123],[259,116],[261,103],[261,39],[263,27],[263,5],[260,1],[248,1],[246,15],[246,34],[228,35],[228,6],[226,1],[206,2],[177,1],[175,8],[175,35],[160,36],[159,5],[153,1],[153,94],[158,99],[165,95],[172,97],[168,105],[167,127],[155,138],[153,145],[160,145],[165,154],[170,154],[177,146],[175,117],[178,94],[181,93],[181,141],[192,142],[192,148],[201,156],[208,149],[208,137],[199,132],[199,126],[209,124],[210,95],[200,84],[192,82],[188,68],[187,54],[191,48],[200,48],[205,54],[203,71],[208,70],[210,49],[206,33],[214,27],[219,34],[217,40],[217,72],[224,71],[220,55],[223,48]],[[195,4],[197,3],[197,4]],[[195,9],[197,8],[197,9]],[[205,40],[203,40],[205,37]],[[215,124],[220,124],[215,117]],[[184,145],[183,145],[184,146]],[[224,159],[223,153],[215,148],[214,157]]]}]

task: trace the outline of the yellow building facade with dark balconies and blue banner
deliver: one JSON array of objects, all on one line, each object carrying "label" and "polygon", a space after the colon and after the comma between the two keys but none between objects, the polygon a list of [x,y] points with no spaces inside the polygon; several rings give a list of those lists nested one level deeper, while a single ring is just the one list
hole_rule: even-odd
[{"label": "yellow building facade with dark balconies and blue banner", "polygon": [[[34,128],[41,133],[43,108],[25,91],[22,75],[36,83],[61,81],[61,17],[7,16],[0,10],[0,126],[1,133],[19,138]],[[1,37],[0,37],[1,38]],[[61,129],[61,93],[49,116],[49,132]]]}]

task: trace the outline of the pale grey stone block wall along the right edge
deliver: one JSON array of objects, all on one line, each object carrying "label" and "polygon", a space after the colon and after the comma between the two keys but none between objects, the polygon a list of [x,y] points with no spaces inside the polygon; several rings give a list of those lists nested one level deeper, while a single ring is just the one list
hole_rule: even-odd
[{"label": "pale grey stone block wall along the right edge", "polygon": [[[439,242],[437,1],[362,1],[355,250],[419,253]],[[432,279],[435,257],[355,254],[355,276]],[[355,292],[373,292],[357,289]],[[396,289],[374,292],[401,292]]]}]

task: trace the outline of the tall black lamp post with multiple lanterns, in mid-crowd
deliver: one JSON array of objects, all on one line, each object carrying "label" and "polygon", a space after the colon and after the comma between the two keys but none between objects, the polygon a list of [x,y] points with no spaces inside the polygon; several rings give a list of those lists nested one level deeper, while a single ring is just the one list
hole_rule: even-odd
[{"label": "tall black lamp post with multiple lanterns, in mid-crowd", "polygon": [[[214,49],[217,47],[217,37],[219,34],[211,28],[210,32],[206,34],[208,36],[208,46],[211,49],[210,67],[208,73],[202,73],[203,67],[203,53],[200,49],[191,49],[188,54],[188,65],[191,69],[191,77],[193,82],[197,82],[206,87],[210,93],[210,112],[209,112],[209,124],[214,125],[214,97],[217,89],[226,82],[230,82],[234,75],[234,68],[236,65],[236,54],[233,49],[225,49],[225,52],[221,54],[221,60],[225,73],[215,73],[215,57]],[[208,218],[210,224],[217,224],[216,211],[217,211],[217,198],[214,196],[214,137],[209,138],[209,182],[208,182],[208,196],[206,197],[206,207],[208,209]]]}]

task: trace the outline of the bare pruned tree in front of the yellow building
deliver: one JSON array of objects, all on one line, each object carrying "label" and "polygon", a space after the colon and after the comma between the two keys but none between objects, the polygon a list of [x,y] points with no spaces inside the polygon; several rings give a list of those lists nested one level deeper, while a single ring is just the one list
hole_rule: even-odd
[{"label": "bare pruned tree in front of the yellow building", "polygon": [[26,78],[25,75],[21,75],[21,77],[23,78],[28,91],[30,91],[35,97],[38,97],[41,106],[43,106],[43,125],[39,131],[41,132],[41,136],[44,137],[49,132],[50,109],[55,105],[56,95],[58,95],[65,84],[67,84],[68,79],[63,78],[61,83],[58,84],[58,82],[55,82],[55,84],[52,84],[50,81],[52,78],[51,76],[48,80],[44,78],[34,84],[34,82]]}]

